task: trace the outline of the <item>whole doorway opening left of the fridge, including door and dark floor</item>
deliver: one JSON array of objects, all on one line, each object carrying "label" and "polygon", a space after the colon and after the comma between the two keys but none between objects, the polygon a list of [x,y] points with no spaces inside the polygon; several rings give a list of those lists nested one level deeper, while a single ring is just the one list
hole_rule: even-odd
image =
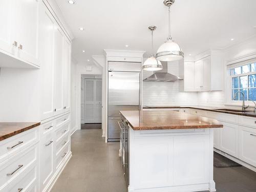
[{"label": "whole doorway opening left of the fridge, including door and dark floor", "polygon": [[102,76],[81,75],[81,129],[101,129]]}]

